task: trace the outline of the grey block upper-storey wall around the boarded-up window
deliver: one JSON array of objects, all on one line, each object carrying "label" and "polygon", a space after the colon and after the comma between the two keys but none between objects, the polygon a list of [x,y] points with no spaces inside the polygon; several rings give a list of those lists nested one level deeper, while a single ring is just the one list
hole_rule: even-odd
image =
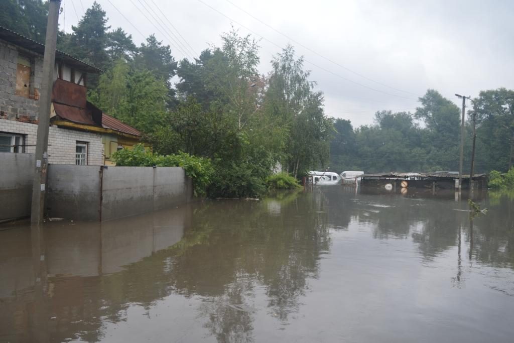
[{"label": "grey block upper-storey wall around the boarded-up window", "polygon": [[[16,68],[18,55],[22,54],[31,60],[30,97],[15,95]],[[17,48],[0,40],[0,116],[7,119],[28,117],[35,120],[39,110],[39,92],[43,78],[43,56],[34,52]]]}]

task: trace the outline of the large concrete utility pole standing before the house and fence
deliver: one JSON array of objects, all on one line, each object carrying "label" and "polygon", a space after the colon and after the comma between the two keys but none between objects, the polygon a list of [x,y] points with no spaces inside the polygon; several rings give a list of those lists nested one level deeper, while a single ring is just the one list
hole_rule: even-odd
[{"label": "large concrete utility pole standing before the house and fence", "polygon": [[43,81],[39,99],[38,138],[35,146],[35,174],[32,184],[32,208],[30,222],[41,223],[45,208],[46,172],[48,167],[48,131],[50,126],[50,102],[53,88],[53,69],[56,63],[57,30],[61,0],[49,0],[46,25]]}]

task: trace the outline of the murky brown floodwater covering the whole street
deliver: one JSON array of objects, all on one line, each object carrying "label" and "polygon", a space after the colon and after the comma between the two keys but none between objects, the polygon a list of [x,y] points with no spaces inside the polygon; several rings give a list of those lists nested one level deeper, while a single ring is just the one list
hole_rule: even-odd
[{"label": "murky brown floodwater covering the whole street", "polygon": [[0,341],[512,342],[514,202],[478,203],[333,186],[17,225]]}]

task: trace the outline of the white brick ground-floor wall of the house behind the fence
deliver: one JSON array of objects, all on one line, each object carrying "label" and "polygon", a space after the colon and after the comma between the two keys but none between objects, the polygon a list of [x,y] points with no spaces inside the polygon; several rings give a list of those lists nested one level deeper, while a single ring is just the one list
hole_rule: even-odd
[{"label": "white brick ground-floor wall of the house behind the fence", "polygon": [[[0,119],[0,132],[26,135],[26,153],[35,153],[35,140],[38,125],[15,120]],[[60,165],[75,164],[75,145],[77,141],[87,142],[87,164],[92,166],[103,165],[102,137],[97,133],[75,131],[50,127],[48,136],[49,163]]]}]

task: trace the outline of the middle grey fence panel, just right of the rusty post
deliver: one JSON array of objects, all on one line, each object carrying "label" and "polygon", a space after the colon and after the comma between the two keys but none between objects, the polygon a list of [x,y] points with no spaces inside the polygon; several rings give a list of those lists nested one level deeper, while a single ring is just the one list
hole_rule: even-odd
[{"label": "middle grey fence panel, just right of the rusty post", "polygon": [[153,211],[151,167],[108,167],[103,170],[102,221]]}]

